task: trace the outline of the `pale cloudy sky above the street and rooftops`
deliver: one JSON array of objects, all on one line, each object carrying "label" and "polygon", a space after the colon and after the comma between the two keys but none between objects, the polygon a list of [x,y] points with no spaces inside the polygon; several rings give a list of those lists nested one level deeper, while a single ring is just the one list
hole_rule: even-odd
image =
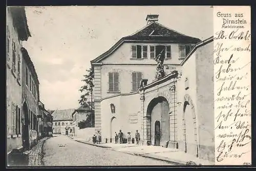
[{"label": "pale cloudy sky above the street and rooftops", "polygon": [[123,36],[146,26],[146,15],[201,40],[213,35],[210,6],[48,6],[26,7],[31,33],[28,50],[46,109],[79,107],[79,88],[90,61]]}]

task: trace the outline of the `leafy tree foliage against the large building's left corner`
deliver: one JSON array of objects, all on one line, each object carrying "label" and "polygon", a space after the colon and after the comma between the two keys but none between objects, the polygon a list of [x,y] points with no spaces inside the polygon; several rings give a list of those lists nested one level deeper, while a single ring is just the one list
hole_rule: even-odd
[{"label": "leafy tree foliage against the large building's left corner", "polygon": [[94,79],[94,70],[90,68],[89,70],[86,70],[87,74],[83,75],[83,79],[81,80],[84,82],[84,85],[81,86],[79,91],[81,91],[81,96],[80,99],[78,100],[80,105],[84,105],[86,102],[90,101],[90,98],[88,97],[89,95],[92,96],[92,91],[93,91],[93,79]]}]

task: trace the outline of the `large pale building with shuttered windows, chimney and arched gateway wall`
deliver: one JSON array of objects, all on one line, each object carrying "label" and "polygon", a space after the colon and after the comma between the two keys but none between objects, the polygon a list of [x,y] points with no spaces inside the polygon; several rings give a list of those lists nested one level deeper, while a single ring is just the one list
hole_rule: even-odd
[{"label": "large pale building with shuttered windows, chimney and arched gateway wall", "polygon": [[214,161],[213,39],[169,29],[158,23],[158,15],[147,15],[146,22],[91,61],[95,131],[113,139],[119,129],[124,138],[126,132],[134,138],[138,130],[142,145]]}]

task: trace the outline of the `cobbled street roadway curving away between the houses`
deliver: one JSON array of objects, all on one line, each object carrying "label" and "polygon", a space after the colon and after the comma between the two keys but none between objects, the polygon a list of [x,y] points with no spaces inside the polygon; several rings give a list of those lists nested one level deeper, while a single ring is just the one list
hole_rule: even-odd
[{"label": "cobbled street roadway curving away between the houses", "polygon": [[42,163],[45,166],[172,165],[80,143],[67,136],[56,136],[46,140],[43,154]]}]

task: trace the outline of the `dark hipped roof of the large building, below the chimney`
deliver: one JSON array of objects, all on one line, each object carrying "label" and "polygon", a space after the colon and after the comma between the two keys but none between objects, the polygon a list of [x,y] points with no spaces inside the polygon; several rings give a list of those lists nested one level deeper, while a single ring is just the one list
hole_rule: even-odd
[{"label": "dark hipped roof of the large building, below the chimney", "polygon": [[169,29],[157,22],[145,26],[141,30],[135,32],[132,35],[122,37],[114,46],[108,51],[104,52],[96,59],[91,61],[91,64],[102,61],[107,58],[112,52],[116,50],[124,42],[164,42],[164,43],[191,43],[197,44],[201,42],[196,37],[187,36],[179,33],[173,29]]}]

